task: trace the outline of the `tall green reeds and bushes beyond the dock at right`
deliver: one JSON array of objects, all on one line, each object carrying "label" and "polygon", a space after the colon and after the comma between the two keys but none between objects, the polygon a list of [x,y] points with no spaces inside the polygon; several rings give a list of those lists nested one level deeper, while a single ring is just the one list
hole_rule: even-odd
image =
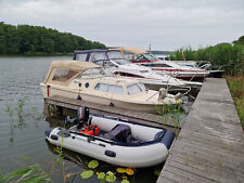
[{"label": "tall green reeds and bushes beyond the dock at right", "polygon": [[180,49],[170,54],[172,61],[209,61],[213,66],[221,66],[228,75],[244,75],[244,36],[232,43],[219,43],[193,51]]}]

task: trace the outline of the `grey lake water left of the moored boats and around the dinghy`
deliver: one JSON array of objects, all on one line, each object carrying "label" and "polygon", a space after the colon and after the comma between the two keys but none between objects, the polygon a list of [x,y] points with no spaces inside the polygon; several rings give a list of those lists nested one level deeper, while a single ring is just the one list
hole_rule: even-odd
[{"label": "grey lake water left of the moored boats and around the dinghy", "polygon": [[[44,115],[44,103],[39,83],[44,80],[52,61],[70,60],[70,56],[41,56],[41,57],[0,57],[0,167],[4,173],[27,165],[38,164],[51,174],[53,182],[62,182],[62,168],[52,162],[57,155],[53,147],[47,144],[44,131],[50,126],[62,121],[56,117]],[[23,106],[23,118],[17,112]],[[13,113],[13,115],[11,115]],[[66,152],[69,156],[87,157]],[[28,157],[26,160],[20,156]],[[115,167],[103,165],[100,171]],[[65,160],[65,173],[75,173],[82,168],[72,160]],[[130,178],[134,183],[153,183],[155,168],[140,169]],[[70,178],[74,182],[100,182],[95,177],[81,180],[79,175]],[[69,180],[69,181],[70,181]]]}]

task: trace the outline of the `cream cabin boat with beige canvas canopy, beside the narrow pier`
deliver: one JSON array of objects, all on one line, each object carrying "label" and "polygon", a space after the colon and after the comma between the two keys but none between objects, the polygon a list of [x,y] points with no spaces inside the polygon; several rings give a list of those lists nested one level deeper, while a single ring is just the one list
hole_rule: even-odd
[{"label": "cream cabin boat with beige canvas canopy, beside the narrow pier", "polygon": [[147,90],[134,79],[107,76],[101,66],[90,62],[53,61],[40,87],[44,99],[57,95],[147,113],[182,103],[181,94]]}]

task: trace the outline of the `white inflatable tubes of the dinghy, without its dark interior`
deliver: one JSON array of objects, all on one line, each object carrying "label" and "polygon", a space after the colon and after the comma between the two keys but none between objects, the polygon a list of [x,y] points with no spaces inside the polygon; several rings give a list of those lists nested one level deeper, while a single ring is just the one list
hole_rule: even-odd
[{"label": "white inflatable tubes of the dinghy, without its dark interior", "polygon": [[[102,130],[112,129],[117,123],[129,125],[133,136],[143,136],[144,140],[150,140],[151,143],[142,143],[141,145],[123,145],[110,143],[108,141],[106,142],[102,138],[92,139],[91,135],[80,135],[77,133],[70,133],[70,136],[62,138],[57,134],[61,128],[53,129],[50,134],[48,134],[47,140],[51,144],[63,146],[64,148],[106,161],[108,164],[123,167],[141,168],[155,166],[165,161],[168,155],[168,148],[171,146],[175,136],[171,132],[166,131],[165,136],[158,141],[152,142],[154,135],[157,132],[160,132],[162,129],[101,117],[93,117],[92,120],[97,121],[92,123],[98,126],[100,125],[99,127],[101,127]],[[105,122],[104,127],[101,122]],[[167,138],[170,139],[170,142],[166,142]]]}]

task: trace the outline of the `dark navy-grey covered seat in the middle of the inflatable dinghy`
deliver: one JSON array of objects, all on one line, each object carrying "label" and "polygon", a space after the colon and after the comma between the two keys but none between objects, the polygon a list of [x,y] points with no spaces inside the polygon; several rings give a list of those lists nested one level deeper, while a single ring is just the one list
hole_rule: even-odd
[{"label": "dark navy-grey covered seat in the middle of the inflatable dinghy", "polygon": [[124,123],[118,123],[110,132],[99,136],[120,143],[130,143],[132,140],[130,127]]}]

